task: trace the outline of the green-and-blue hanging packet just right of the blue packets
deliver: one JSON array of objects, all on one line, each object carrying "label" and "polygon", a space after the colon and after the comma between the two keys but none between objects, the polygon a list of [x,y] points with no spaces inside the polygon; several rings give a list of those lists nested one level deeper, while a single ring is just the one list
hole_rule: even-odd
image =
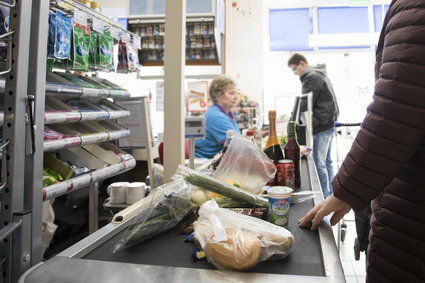
[{"label": "green-and-blue hanging packet just right of the blue packets", "polygon": [[73,69],[88,71],[89,69],[90,30],[74,24],[73,37]]}]

